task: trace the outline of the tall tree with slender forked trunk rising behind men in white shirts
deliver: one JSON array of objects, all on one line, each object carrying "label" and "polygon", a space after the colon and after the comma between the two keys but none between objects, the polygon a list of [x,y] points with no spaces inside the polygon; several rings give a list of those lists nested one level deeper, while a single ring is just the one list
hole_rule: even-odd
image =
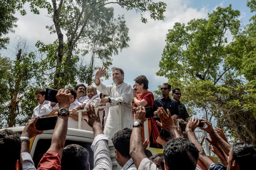
[{"label": "tall tree with slender forked trunk rising behind men in white shirts", "polygon": [[[78,44],[81,43],[82,37],[85,37],[84,40],[88,40],[88,37],[86,37],[86,35],[88,35],[89,32],[92,32],[94,28],[102,27],[101,31],[107,31],[107,29],[109,30],[109,28],[105,26],[108,22],[111,22],[111,20],[104,22],[102,22],[103,20],[100,20],[100,17],[103,17],[104,14],[111,14],[113,9],[105,7],[108,4],[119,4],[123,8],[126,7],[127,10],[136,10],[137,12],[141,13],[141,21],[144,23],[146,23],[147,19],[143,17],[143,12],[148,11],[150,13],[150,17],[154,20],[163,20],[163,13],[166,8],[166,4],[164,2],[153,2],[153,0],[118,0],[116,2],[107,0],[53,0],[52,6],[48,8],[48,15],[52,17],[54,25],[48,26],[47,28],[49,29],[50,33],[57,34],[58,40],[54,44],[50,45],[45,45],[42,42],[37,43],[37,47],[40,48],[39,50],[41,52],[48,53],[47,59],[49,62],[44,61],[43,63],[53,64],[48,68],[54,68],[54,75],[50,76],[53,78],[53,88],[58,89],[76,83],[75,74],[77,75],[79,73],[78,69],[76,68],[76,64],[79,61],[78,54],[80,53],[78,49]],[[107,16],[105,16],[105,18],[106,17]],[[97,21],[97,25],[94,25],[95,27],[93,28],[89,27],[92,21],[96,23],[95,18],[99,20]],[[100,36],[102,38],[103,34],[97,37],[91,36],[91,38],[95,39],[90,39],[89,42],[85,42],[87,44],[90,43],[90,45],[100,42],[100,44],[95,45],[97,45],[98,48],[105,48],[105,50],[96,50],[95,48],[93,48],[93,46],[90,46],[91,49],[85,49],[85,51],[92,50],[92,60],[95,59],[95,54],[97,54],[97,57],[99,57],[100,60],[107,59],[107,62],[105,62],[104,64],[111,65],[111,59],[109,57],[112,54],[117,54],[117,50],[122,50],[122,48],[128,47],[127,41],[129,40],[129,38],[126,35],[127,28],[124,25],[123,19],[117,18],[116,21],[118,21],[119,23],[113,26],[123,29],[121,32],[122,34],[114,35],[111,32],[105,32],[107,33],[107,35],[105,35],[105,37],[107,38],[114,38],[113,36],[118,37],[112,40],[112,44],[110,43],[110,40],[108,40],[108,42],[105,42],[106,39],[97,39],[100,38]],[[63,32],[65,32],[65,36],[63,35]],[[52,53],[54,50],[57,50],[57,54]],[[105,56],[103,57],[103,55]],[[55,61],[55,63],[53,60]],[[90,62],[90,64],[92,63],[93,62]],[[89,76],[92,75],[92,70],[94,70],[94,68],[91,65],[90,68],[86,69],[86,71],[90,71],[90,74],[88,74]],[[91,81],[88,82],[90,83]]]}]

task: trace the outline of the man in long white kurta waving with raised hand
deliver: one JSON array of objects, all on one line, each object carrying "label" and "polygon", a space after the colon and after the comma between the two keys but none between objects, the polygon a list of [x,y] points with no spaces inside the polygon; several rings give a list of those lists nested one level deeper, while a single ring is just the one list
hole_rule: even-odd
[{"label": "man in long white kurta waving with raised hand", "polygon": [[[106,120],[104,134],[107,135],[108,140],[111,141],[114,133],[119,129],[119,116],[118,116],[118,106],[117,103],[121,102],[124,104],[131,105],[133,98],[132,86],[129,83],[123,82],[124,72],[121,68],[115,68],[112,73],[113,81],[116,85],[105,86],[100,82],[100,77],[106,72],[106,68],[100,68],[95,74],[95,84],[98,91],[107,94],[109,98],[101,99],[100,103],[103,105],[110,102],[114,107],[110,107],[108,112],[108,117]],[[123,107],[123,127],[132,128],[133,125],[133,115],[132,109]]]}]

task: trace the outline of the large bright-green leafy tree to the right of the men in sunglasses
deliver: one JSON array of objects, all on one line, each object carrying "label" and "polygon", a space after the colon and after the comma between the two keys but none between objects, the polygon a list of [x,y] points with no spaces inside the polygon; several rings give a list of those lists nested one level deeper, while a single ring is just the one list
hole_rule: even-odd
[{"label": "large bright-green leafy tree to the right of the men in sunglasses", "polygon": [[192,113],[227,128],[229,134],[238,137],[234,140],[256,144],[256,119],[252,112],[255,108],[248,109],[252,100],[246,101],[253,99],[248,96],[252,86],[245,85],[245,74],[234,67],[230,58],[242,54],[243,48],[228,44],[226,35],[238,35],[239,15],[229,5],[217,7],[208,19],[194,19],[187,26],[175,23],[166,36],[156,75],[166,76],[182,89],[182,99]]}]

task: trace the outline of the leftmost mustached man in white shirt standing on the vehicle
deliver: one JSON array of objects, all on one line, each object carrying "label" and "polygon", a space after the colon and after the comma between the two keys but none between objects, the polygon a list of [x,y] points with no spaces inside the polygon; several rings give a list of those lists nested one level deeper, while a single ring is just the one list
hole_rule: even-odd
[{"label": "leftmost mustached man in white shirt standing on the vehicle", "polygon": [[38,89],[38,90],[36,90],[36,92],[34,94],[36,95],[36,101],[37,101],[38,105],[33,110],[32,119],[35,118],[36,116],[42,117],[42,115],[40,115],[40,110],[43,105],[49,103],[49,101],[44,100],[44,97],[45,97],[44,89]]}]

